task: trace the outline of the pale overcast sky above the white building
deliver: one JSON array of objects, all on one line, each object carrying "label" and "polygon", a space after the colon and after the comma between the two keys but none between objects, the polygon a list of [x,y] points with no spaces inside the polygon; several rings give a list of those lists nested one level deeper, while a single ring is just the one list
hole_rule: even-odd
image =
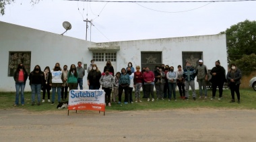
[{"label": "pale overcast sky above the white building", "polygon": [[255,7],[256,1],[102,3],[42,0],[32,6],[27,0],[16,0],[6,6],[0,21],[58,34],[65,31],[63,21],[69,21],[72,28],[64,35],[86,40],[84,20],[88,18],[94,24],[92,27],[88,24],[88,41],[115,42],[218,34],[245,19],[255,20]]}]

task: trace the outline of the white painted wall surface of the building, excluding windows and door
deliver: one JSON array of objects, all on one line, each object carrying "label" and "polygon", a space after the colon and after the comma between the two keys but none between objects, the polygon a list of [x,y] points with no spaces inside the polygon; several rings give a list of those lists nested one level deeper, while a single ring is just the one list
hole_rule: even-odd
[{"label": "white painted wall surface of the building, excluding windows and door", "polygon": [[[61,36],[55,33],[13,25],[0,21],[0,92],[15,91],[13,77],[7,76],[9,52],[31,52],[31,69],[36,64],[42,70],[45,66],[53,68],[56,62],[77,65],[78,61],[90,65],[92,50],[90,47],[103,48],[108,52],[104,45],[118,46],[117,62],[115,72],[120,72],[121,68],[126,68],[128,62],[133,66],[141,66],[141,52],[162,52],[162,63],[174,66],[177,70],[179,64],[183,64],[182,52],[203,52],[203,62],[208,69],[215,66],[216,60],[220,60],[221,65],[227,70],[226,36],[222,34],[210,36],[192,36],[181,38],[162,38],[152,40],[133,40],[123,42],[94,43]],[[100,52],[100,50],[98,50]],[[97,63],[96,63],[97,64]],[[104,63],[105,64],[105,63]],[[100,68],[104,68],[104,64]],[[153,70],[153,68],[152,68]],[[103,70],[101,70],[103,71]],[[87,76],[87,73],[86,73]],[[84,77],[84,88],[88,89],[86,76]],[[195,87],[198,88],[197,83]],[[30,91],[28,81],[26,91]]]}]

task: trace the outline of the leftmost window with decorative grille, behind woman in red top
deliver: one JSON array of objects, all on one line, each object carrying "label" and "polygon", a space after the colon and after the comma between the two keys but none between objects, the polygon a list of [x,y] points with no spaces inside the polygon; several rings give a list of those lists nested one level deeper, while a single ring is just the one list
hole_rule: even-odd
[{"label": "leftmost window with decorative grille, behind woman in red top", "polygon": [[18,64],[24,64],[24,68],[30,73],[31,52],[9,52],[8,76],[13,76]]}]

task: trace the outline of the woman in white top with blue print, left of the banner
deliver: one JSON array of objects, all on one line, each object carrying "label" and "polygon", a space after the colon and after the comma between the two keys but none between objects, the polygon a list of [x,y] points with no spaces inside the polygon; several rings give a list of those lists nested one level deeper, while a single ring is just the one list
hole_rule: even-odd
[{"label": "woman in white top with blue print, left of the banner", "polygon": [[61,102],[61,87],[63,86],[63,75],[60,68],[59,63],[55,64],[55,68],[51,71],[52,73],[52,102],[51,104],[55,104],[55,92],[57,88],[57,94],[58,94],[58,102]]}]

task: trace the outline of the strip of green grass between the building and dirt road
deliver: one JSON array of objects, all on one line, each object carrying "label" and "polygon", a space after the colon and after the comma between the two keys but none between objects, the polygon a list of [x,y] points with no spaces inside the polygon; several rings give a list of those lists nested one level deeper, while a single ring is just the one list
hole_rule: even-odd
[{"label": "strip of green grass between the building and dirt road", "polygon": [[[146,98],[141,98],[142,102],[134,102],[133,104],[116,104],[113,102],[112,106],[106,106],[106,111],[137,111],[137,110],[164,110],[164,109],[186,109],[186,108],[228,108],[228,109],[256,109],[256,92],[252,89],[241,89],[241,104],[237,102],[230,103],[231,95],[230,90],[224,89],[222,100],[218,100],[218,90],[216,93],[216,99],[210,100],[212,96],[212,90],[208,90],[208,98],[198,99],[199,90],[196,90],[197,100],[191,98],[192,92],[190,91],[189,100],[181,100],[179,98],[179,92],[177,94],[177,101],[168,99],[156,100],[154,102],[148,102]],[[142,92],[142,91],[141,91]],[[57,99],[57,94],[55,94]],[[235,94],[236,95],[236,94]],[[42,96],[42,93],[41,93]],[[47,96],[47,95],[46,95]],[[124,94],[122,95],[124,100]],[[141,95],[142,97],[143,95]],[[156,93],[155,93],[156,98]],[[235,96],[236,98],[236,96]],[[237,100],[237,99],[236,99]],[[26,109],[28,111],[57,111],[57,104],[51,105],[51,102],[44,102],[42,105],[31,106],[31,92],[25,92],[25,105],[13,106],[15,101],[15,92],[0,92],[0,109]],[[133,94],[133,101],[135,97]],[[55,101],[57,102],[57,100]],[[64,109],[67,111],[67,109]],[[63,111],[64,111],[63,110]]]}]

